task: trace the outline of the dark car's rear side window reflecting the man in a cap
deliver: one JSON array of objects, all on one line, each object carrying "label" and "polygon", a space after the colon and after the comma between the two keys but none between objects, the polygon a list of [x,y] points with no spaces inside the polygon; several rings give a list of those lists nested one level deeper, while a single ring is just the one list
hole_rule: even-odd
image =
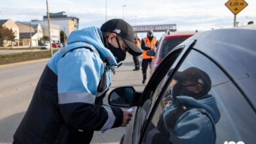
[{"label": "dark car's rear side window reflecting the man in a cap", "polygon": [[192,50],[166,84],[143,143],[254,143],[255,112],[211,60]]}]

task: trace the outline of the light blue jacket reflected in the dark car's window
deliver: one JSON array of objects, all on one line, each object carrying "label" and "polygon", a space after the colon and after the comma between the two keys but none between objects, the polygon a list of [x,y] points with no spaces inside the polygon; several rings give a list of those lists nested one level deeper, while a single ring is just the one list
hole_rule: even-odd
[{"label": "light blue jacket reflected in the dark car's window", "polygon": [[[174,128],[171,128],[173,134],[179,137],[182,143],[215,143],[215,124],[219,121],[221,114],[215,98],[210,95],[204,97],[194,99],[189,96],[177,96],[177,102],[163,110],[162,117],[166,119],[165,117],[179,105],[189,105],[188,111],[181,115]],[[163,123],[165,128],[168,128],[167,121],[163,120]]]}]

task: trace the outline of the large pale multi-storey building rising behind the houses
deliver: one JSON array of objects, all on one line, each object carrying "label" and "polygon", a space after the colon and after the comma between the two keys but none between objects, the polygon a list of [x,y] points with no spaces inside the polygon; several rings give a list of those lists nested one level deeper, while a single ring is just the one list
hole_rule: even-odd
[{"label": "large pale multi-storey building rising behind the houses", "polygon": [[[51,24],[60,26],[61,31],[65,31],[67,37],[72,31],[78,29],[79,18],[68,16],[66,12],[49,13]],[[43,21],[47,22],[47,16],[43,16]]]}]

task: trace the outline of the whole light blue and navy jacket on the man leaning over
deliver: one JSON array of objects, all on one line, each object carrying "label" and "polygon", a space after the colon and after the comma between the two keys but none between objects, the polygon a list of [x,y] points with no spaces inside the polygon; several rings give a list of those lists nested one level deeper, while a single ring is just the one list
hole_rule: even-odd
[{"label": "whole light blue and navy jacket on the man leaning over", "polygon": [[[108,63],[106,75],[104,62]],[[69,143],[65,139],[72,141],[72,137],[64,135],[69,129],[104,132],[121,126],[123,111],[97,101],[111,84],[110,67],[114,65],[116,60],[104,47],[98,28],[73,31],[68,45],[47,63],[14,134],[14,143]],[[104,79],[105,87],[99,91],[100,79]],[[91,137],[75,135],[75,139],[89,141]]]}]

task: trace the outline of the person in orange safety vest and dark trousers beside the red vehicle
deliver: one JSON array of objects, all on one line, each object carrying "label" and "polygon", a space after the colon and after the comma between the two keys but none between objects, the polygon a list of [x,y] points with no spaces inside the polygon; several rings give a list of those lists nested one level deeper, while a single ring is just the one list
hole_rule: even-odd
[{"label": "person in orange safety vest and dark trousers beside the red vehicle", "polygon": [[156,50],[156,45],[158,44],[158,40],[153,35],[153,30],[148,31],[147,36],[144,37],[141,41],[141,48],[143,50],[142,53],[142,75],[143,80],[142,84],[146,82],[146,69],[148,69],[148,63],[151,65],[153,56],[147,56],[146,52],[148,50]]}]

